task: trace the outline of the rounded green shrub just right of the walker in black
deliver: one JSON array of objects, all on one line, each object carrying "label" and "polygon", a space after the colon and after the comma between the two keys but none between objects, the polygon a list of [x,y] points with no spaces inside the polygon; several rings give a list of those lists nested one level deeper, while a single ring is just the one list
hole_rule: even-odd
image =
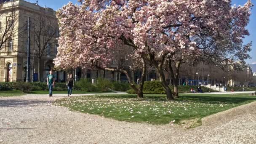
[{"label": "rounded green shrub just right of the walker in black", "polygon": [[77,89],[81,90],[81,91],[87,91],[87,92],[91,92],[91,91],[96,91],[97,88],[91,83],[90,79],[81,79],[79,80],[77,83],[75,83],[75,87],[77,87]]}]

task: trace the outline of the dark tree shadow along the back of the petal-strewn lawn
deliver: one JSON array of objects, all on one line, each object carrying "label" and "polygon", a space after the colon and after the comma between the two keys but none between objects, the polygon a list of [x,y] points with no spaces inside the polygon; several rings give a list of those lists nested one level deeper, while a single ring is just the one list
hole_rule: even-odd
[{"label": "dark tree shadow along the back of the petal-strewn lawn", "polygon": [[[96,96],[101,98],[109,99],[133,99],[135,101],[168,101],[166,96],[157,95],[146,95],[143,99],[136,99],[136,95],[110,95],[110,96]],[[196,103],[207,103],[207,104],[238,104],[245,101],[256,101],[256,97],[245,97],[245,96],[179,96],[179,99],[175,101],[190,101]]]}]

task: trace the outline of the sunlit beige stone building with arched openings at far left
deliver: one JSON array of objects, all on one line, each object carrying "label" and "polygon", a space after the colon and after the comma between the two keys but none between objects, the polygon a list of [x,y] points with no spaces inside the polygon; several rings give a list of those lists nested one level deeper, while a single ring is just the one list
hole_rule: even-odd
[{"label": "sunlit beige stone building with arched openings at far left", "polygon": [[[9,11],[15,8],[15,12],[18,15],[14,29],[18,29],[15,37],[12,37],[0,51],[0,82],[16,82],[26,80],[27,75],[27,21],[28,17],[31,17],[31,24],[35,22],[35,18],[40,15],[47,17],[51,24],[58,26],[55,11],[51,8],[43,8],[37,3],[29,3],[24,0],[13,0],[1,3],[0,22],[5,24],[6,16]],[[11,6],[12,5],[12,6]],[[3,14],[5,13],[5,14]],[[3,27],[3,26],[2,26]],[[1,33],[0,33],[1,35]],[[53,37],[51,41],[56,41],[57,38]],[[43,37],[41,37],[43,39]],[[35,42],[35,32],[31,29],[31,78],[34,81],[38,81],[38,75],[40,74],[40,81],[45,81],[49,70],[53,68],[53,59],[56,57],[57,42],[50,43],[47,48],[47,53],[41,58],[40,64],[35,50],[38,49]],[[40,67],[40,72],[38,69]],[[64,72],[55,72],[56,76],[59,76],[59,81],[64,80]]]}]

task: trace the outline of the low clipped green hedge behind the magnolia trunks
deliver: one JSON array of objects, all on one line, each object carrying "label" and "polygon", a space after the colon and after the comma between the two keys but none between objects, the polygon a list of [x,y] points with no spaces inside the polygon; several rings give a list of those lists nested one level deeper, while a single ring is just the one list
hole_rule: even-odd
[{"label": "low clipped green hedge behind the magnolia trunks", "polygon": [[[173,90],[173,85],[170,86],[171,90]],[[179,85],[178,86],[178,92],[179,93],[191,93],[190,89],[193,88],[195,91],[197,91],[197,86],[191,86],[191,85]],[[203,92],[215,92],[214,90],[210,88],[206,88],[202,86]],[[135,94],[135,91],[133,89],[129,89],[127,93]],[[144,94],[165,94],[165,91],[163,89],[163,86],[161,85],[161,82],[158,80],[154,81],[145,81],[143,86],[143,93]]]}]

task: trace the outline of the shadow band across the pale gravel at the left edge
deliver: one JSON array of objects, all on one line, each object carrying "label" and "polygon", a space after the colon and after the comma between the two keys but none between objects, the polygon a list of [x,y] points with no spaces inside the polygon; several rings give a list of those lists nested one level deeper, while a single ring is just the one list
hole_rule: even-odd
[{"label": "shadow band across the pale gravel at the left edge", "polygon": [[0,107],[29,107],[37,106],[37,104],[46,104],[49,101],[42,101],[42,100],[21,100],[21,99],[5,99],[0,100]]}]

